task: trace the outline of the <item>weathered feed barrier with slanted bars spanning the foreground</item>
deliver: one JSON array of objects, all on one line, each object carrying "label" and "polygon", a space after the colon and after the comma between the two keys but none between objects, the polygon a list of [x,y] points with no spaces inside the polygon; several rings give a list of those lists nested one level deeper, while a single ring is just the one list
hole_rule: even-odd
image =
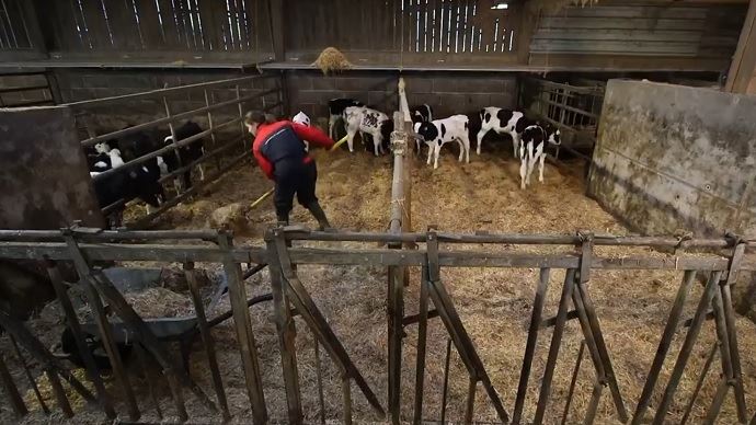
[{"label": "weathered feed barrier with slanted bars spanning the foreground", "polygon": [[[167,239],[172,242],[163,242]],[[201,241],[213,241],[215,243],[197,244]],[[142,412],[144,407],[137,405],[134,398],[128,395],[133,393],[133,383],[130,383],[127,371],[123,367],[123,361],[118,358],[118,352],[115,349],[113,332],[110,332],[114,322],[105,315],[104,310],[101,308],[101,297],[107,301],[129,333],[136,335],[135,344],[144,348],[145,354],[147,354],[147,356],[142,357],[153,358],[162,368],[163,376],[171,387],[173,404],[180,420],[186,421],[188,417],[185,414],[186,401],[183,397],[183,391],[185,390],[190,390],[194,394],[193,397],[201,401],[211,414],[224,418],[231,416],[220,378],[222,376],[221,365],[218,364],[215,357],[216,348],[210,331],[210,324],[216,324],[217,320],[207,318],[205,307],[195,285],[194,263],[198,262],[222,264],[228,279],[232,311],[226,314],[226,318],[232,315],[237,324],[238,348],[242,356],[242,371],[254,423],[265,423],[272,416],[265,403],[265,389],[262,386],[260,375],[255,335],[248,310],[249,306],[260,302],[260,297],[248,299],[244,285],[242,284],[243,272],[241,264],[250,262],[267,264],[271,271],[273,309],[283,359],[282,372],[288,405],[285,415],[290,423],[302,422],[303,409],[300,400],[301,387],[298,381],[297,349],[295,348],[297,336],[294,328],[295,318],[300,318],[316,335],[316,349],[319,349],[319,346],[325,348],[325,352],[342,372],[344,422],[350,423],[352,420],[352,383],[356,384],[356,388],[359,389],[379,416],[385,412],[378,397],[350,357],[347,347],[333,333],[311,295],[299,280],[297,266],[307,264],[374,265],[393,267],[393,269],[399,269],[399,267],[422,268],[419,298],[420,313],[405,317],[402,311],[399,314],[400,321],[397,324],[397,329],[402,331],[406,326],[414,324],[419,326],[416,380],[414,382],[415,423],[427,418],[422,413],[425,346],[428,320],[434,318],[439,318],[443,322],[449,334],[451,346],[455,347],[470,374],[467,409],[463,418],[466,423],[470,423],[474,418],[474,392],[479,383],[485,389],[502,423],[508,423],[509,421],[520,423],[526,421],[523,412],[526,401],[525,394],[530,384],[536,341],[540,330],[553,328],[554,332],[551,336],[545,375],[540,379],[536,413],[532,418],[527,418],[527,421],[532,421],[537,424],[542,423],[552,392],[553,370],[562,347],[562,335],[565,324],[568,321],[575,319],[580,322],[584,336],[584,346],[581,347],[580,352],[581,354],[585,352],[589,354],[596,371],[591,404],[585,416],[586,423],[592,423],[595,418],[596,406],[605,388],[609,389],[616,409],[616,417],[621,422],[627,422],[632,417],[632,423],[641,423],[643,421],[645,412],[651,404],[650,395],[654,390],[663,389],[664,395],[656,406],[654,416],[655,423],[663,422],[671,406],[671,401],[677,392],[677,386],[690,358],[691,349],[707,319],[713,319],[715,323],[718,343],[714,347],[720,353],[724,370],[724,375],[718,382],[719,390],[714,394],[714,399],[711,401],[707,412],[708,417],[717,417],[724,397],[732,389],[735,395],[738,418],[741,422],[747,420],[748,412],[744,398],[745,390],[743,388],[731,288],[735,283],[737,272],[756,271],[756,263],[744,257],[745,251],[753,248],[756,241],[738,240],[732,237],[680,241],[678,238],[614,237],[589,232],[572,236],[453,234],[435,230],[423,233],[311,232],[301,228],[272,229],[266,233],[265,241],[265,246],[236,246],[229,233],[216,231],[98,231],[80,228],[65,229],[62,231],[7,230],[0,231],[0,259],[36,259],[45,262],[49,278],[62,306],[62,312],[66,314],[66,322],[75,333],[79,333],[77,341],[83,344],[84,335],[79,332],[80,324],[76,313],[67,307],[70,306],[70,300],[67,295],[67,288],[61,283],[58,268],[61,262],[72,262],[75,264],[81,278],[80,285],[85,289],[88,303],[92,307],[95,321],[99,323],[99,334],[105,347],[111,346],[111,349],[106,349],[106,352],[111,365],[114,367],[114,377],[119,388],[118,393],[126,394],[125,406],[127,415],[131,421],[137,421],[140,417],[140,412]],[[352,241],[365,244],[382,242],[389,246],[412,242],[419,243],[421,246],[417,250],[370,249],[365,246],[358,249],[323,249],[300,246],[299,243],[294,243],[295,248],[291,248],[290,245],[294,241]],[[517,250],[502,252],[485,248],[486,245],[504,243],[515,245],[562,245],[565,246],[565,250],[557,253],[539,254],[518,252]],[[479,248],[474,250],[460,249],[465,244],[476,244]],[[480,246],[480,244],[484,246]],[[594,251],[595,246],[606,245],[677,248],[678,250],[717,249],[717,252],[709,254],[697,253],[696,255],[678,252],[664,257],[657,255],[611,257],[597,255]],[[158,261],[184,264],[184,273],[186,274],[188,290],[197,318],[196,328],[193,328],[192,332],[201,336],[202,349],[206,354],[208,367],[211,370],[211,391],[215,392],[215,398],[207,395],[205,389],[201,388],[184,370],[175,366],[177,363],[165,348],[165,343],[160,341],[147,322],[136,314],[133,307],[125,301],[107,276],[95,267],[96,263],[107,261]],[[485,367],[477,354],[474,343],[469,336],[456,310],[454,300],[446,289],[445,283],[442,279],[442,269],[445,267],[538,268],[540,271],[539,278],[536,282],[536,298],[527,332],[527,345],[519,375],[517,395],[512,410],[505,409],[499,398],[494,383],[489,378]],[[260,267],[255,268],[260,269]],[[548,290],[549,276],[560,268],[565,269],[564,282],[561,287],[552,289],[560,290],[561,292],[558,312],[554,318],[543,319],[543,303],[546,291]],[[629,405],[629,400],[623,398],[617,383],[610,355],[604,342],[599,315],[589,296],[588,283],[592,272],[602,269],[666,269],[679,271],[684,275],[658,343],[654,361],[645,378],[643,392],[637,401],[633,414],[626,410],[626,405]],[[709,278],[700,299],[697,301],[698,307],[692,319],[684,321],[683,307],[690,296],[696,272],[706,272]],[[403,294],[401,296],[403,297]],[[270,299],[263,298],[263,300]],[[400,301],[403,306],[403,299],[400,299]],[[431,309],[429,301],[433,301],[433,309]],[[573,306],[572,310],[570,308],[571,303]],[[397,312],[394,311],[394,313]],[[19,353],[25,352],[26,355],[34,357],[51,382],[59,381],[60,379],[67,380],[75,391],[79,392],[93,406],[101,409],[107,416],[115,417],[114,415],[117,413],[114,407],[116,403],[113,400],[113,390],[106,389],[100,382],[100,370],[91,359],[84,358],[84,361],[88,364],[88,377],[94,384],[94,392],[87,390],[59,360],[51,357],[49,352],[38,343],[37,337],[23,323],[8,314],[0,313],[0,325],[21,346],[22,351]],[[680,325],[687,326],[688,332],[675,360],[672,376],[666,386],[661,387],[658,379],[661,367],[669,356],[672,338]],[[399,341],[400,344],[404,344],[403,340],[400,338]],[[85,348],[82,348],[83,352],[85,352]],[[581,360],[582,355],[579,357],[575,369],[581,367]],[[708,366],[701,375],[708,372],[711,363],[708,361]],[[25,367],[27,365],[26,361],[22,361],[22,364]],[[34,370],[30,370],[28,375],[32,376],[34,372]],[[445,375],[445,381],[448,382],[448,367]],[[569,412],[572,397],[576,391],[574,378],[576,375],[577,372],[573,375],[565,412]],[[3,380],[4,388],[10,389],[10,391],[5,392],[11,395],[11,405],[18,413],[23,413],[26,410],[23,405],[23,400],[12,397],[13,393],[19,392],[16,384],[4,374],[0,374],[0,379]],[[149,377],[149,379],[156,378]],[[319,383],[319,387],[320,391],[322,391],[322,382]],[[58,389],[58,384],[53,386],[53,391],[56,393],[56,400],[61,411],[69,416],[73,415],[68,397],[61,389]],[[696,392],[692,399],[698,393]],[[324,412],[322,398],[320,400],[320,409]],[[398,404],[392,405],[389,399],[388,412],[392,418],[396,417],[399,421],[403,420],[399,413],[401,402],[401,398],[398,397],[396,401]],[[691,400],[689,405],[692,405],[694,402],[695,400]],[[442,405],[445,406],[446,403]],[[397,412],[393,411],[394,409]],[[687,410],[689,411],[689,409]],[[321,414],[324,416],[324,413]],[[445,417],[445,410],[439,412],[439,414],[442,417]]]}]

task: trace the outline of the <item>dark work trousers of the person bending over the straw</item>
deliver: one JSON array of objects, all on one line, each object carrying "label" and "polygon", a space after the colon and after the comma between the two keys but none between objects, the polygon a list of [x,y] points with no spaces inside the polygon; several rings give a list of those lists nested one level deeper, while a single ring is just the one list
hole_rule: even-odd
[{"label": "dark work trousers of the person bending over the straw", "polygon": [[273,202],[279,218],[288,217],[294,207],[295,194],[299,204],[305,208],[318,202],[314,195],[316,181],[318,180],[318,168],[314,161],[305,164],[301,158],[283,159],[273,164],[273,173],[276,177]]}]

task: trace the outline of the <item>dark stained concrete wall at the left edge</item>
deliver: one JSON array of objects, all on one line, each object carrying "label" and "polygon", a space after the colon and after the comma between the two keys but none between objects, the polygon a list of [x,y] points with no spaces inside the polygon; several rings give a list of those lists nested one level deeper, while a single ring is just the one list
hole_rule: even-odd
[{"label": "dark stained concrete wall at the left edge", "polygon": [[69,108],[0,110],[0,170],[2,228],[104,225]]}]

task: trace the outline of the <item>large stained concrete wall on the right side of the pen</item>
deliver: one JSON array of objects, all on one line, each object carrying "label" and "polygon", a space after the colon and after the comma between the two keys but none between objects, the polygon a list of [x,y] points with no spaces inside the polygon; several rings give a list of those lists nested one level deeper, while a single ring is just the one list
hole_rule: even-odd
[{"label": "large stained concrete wall on the right side of the pen", "polygon": [[756,97],[610,80],[588,193],[645,233],[756,236]]}]

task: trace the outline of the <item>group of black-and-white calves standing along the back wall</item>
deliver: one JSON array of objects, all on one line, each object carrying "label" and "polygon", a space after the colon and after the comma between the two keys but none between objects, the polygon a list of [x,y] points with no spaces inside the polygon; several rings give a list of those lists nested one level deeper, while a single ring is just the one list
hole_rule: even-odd
[{"label": "group of black-and-white calves standing along the back wall", "polygon": [[[343,119],[346,129],[346,142],[350,152],[354,152],[354,136],[359,133],[363,141],[366,135],[373,139],[374,153],[385,153],[388,147],[393,119],[375,108],[365,106],[354,99],[333,99],[329,101],[329,136],[334,137],[335,125]],[[520,160],[520,187],[530,184],[530,174],[539,165],[538,181],[543,182],[543,162],[546,145],[560,145],[560,131],[548,123],[540,123],[526,117],[522,112],[489,106],[473,114],[451,115],[443,119],[433,119],[433,108],[419,105],[410,108],[414,133],[416,134],[417,152],[421,140],[428,148],[427,164],[433,159],[433,168],[438,168],[438,157],[444,145],[456,141],[459,145],[459,161],[470,162],[470,139],[477,139],[477,153],[481,153],[483,137],[489,131],[508,134],[514,146],[514,156]],[[310,125],[303,113],[294,117],[294,122]]]}]

